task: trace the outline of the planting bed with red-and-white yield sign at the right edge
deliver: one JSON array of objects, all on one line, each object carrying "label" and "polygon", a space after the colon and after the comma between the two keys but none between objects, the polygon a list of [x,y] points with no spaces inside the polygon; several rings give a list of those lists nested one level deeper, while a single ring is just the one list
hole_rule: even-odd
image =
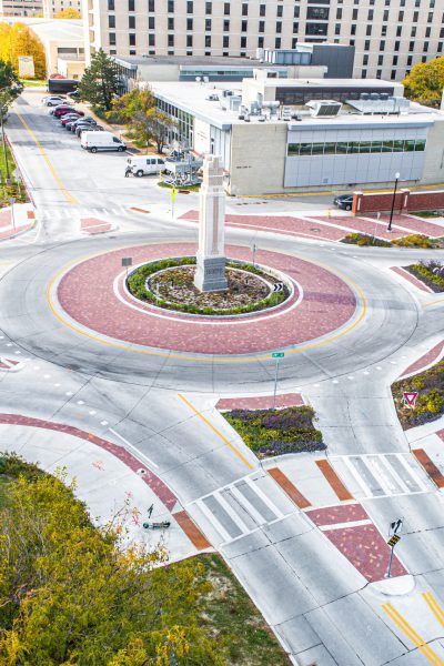
[{"label": "planting bed with red-and-white yield sign at the right edge", "polygon": [[[403,403],[403,393],[417,391],[414,410]],[[444,361],[417,375],[400,380],[392,385],[397,416],[404,430],[423,425],[444,414]]]}]

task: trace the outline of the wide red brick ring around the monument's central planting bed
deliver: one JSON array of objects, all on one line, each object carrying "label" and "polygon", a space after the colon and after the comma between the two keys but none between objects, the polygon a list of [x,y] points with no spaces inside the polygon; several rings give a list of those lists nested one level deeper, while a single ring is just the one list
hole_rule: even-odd
[{"label": "wide red brick ring around the monument's central planting bed", "polygon": [[[304,291],[297,307],[283,306],[275,312],[278,316],[264,312],[221,322],[174,313],[159,316],[159,311],[149,304],[140,304],[142,311],[133,310],[115,296],[113,282],[122,273],[122,256],[132,256],[137,265],[164,256],[192,255],[195,251],[194,244],[145,245],[92,258],[62,278],[59,302],[73,320],[110,337],[203,354],[249,354],[301,344],[342,326],[355,311],[352,291],[333,273],[311,262],[264,250],[258,252],[258,262],[283,271]],[[251,259],[246,248],[228,246],[226,252],[233,259]]]}]

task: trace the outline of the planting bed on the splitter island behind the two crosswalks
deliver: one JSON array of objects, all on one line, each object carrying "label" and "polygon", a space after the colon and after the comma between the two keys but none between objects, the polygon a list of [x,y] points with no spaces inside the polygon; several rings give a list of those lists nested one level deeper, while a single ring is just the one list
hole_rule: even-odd
[{"label": "planting bed on the splitter island behind the two crosswalks", "polygon": [[223,416],[260,458],[326,448],[321,431],[313,425],[315,414],[309,405],[284,410],[233,410]]}]

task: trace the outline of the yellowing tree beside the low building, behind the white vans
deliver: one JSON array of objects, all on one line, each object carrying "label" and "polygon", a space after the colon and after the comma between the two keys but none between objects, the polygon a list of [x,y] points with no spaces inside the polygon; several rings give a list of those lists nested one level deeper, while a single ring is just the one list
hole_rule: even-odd
[{"label": "yellowing tree beside the low building, behind the white vans", "polygon": [[175,125],[175,122],[155,107],[155,99],[151,90],[134,88],[131,92],[114,100],[112,110],[127,124],[132,139],[143,145],[154,141],[158,152],[163,151],[168,131]]}]

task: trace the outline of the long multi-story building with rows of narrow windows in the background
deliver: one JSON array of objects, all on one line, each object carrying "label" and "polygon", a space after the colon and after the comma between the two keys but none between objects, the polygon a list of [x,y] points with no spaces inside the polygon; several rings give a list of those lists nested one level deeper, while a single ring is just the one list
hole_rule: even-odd
[{"label": "long multi-story building with rows of narrow windows in the background", "polygon": [[82,0],[88,52],[255,57],[352,44],[354,77],[402,80],[442,53],[444,0]]}]

